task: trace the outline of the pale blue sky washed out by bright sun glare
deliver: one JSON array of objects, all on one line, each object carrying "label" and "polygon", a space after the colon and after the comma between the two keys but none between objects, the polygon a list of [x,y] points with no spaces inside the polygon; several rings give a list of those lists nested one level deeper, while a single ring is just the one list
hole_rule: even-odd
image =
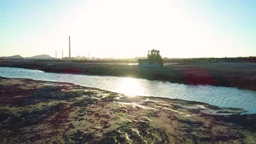
[{"label": "pale blue sky washed out by bright sun glare", "polygon": [[0,56],[256,56],[256,1],[0,0]]}]

